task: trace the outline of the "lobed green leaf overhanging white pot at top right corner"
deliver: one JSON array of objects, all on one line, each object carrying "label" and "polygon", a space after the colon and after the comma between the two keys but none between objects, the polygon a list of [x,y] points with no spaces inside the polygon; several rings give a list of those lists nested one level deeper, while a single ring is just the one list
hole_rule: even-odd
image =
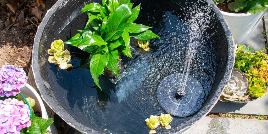
[{"label": "lobed green leaf overhanging white pot at top right corner", "polygon": [[266,6],[264,3],[264,0],[250,0],[246,2],[247,6],[243,10],[244,12],[249,12],[251,14],[264,12],[266,10]]}]

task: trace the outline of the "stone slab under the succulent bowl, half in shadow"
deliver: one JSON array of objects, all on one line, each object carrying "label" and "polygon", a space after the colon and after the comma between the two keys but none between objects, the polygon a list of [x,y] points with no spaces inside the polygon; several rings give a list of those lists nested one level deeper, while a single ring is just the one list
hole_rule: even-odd
[{"label": "stone slab under the succulent bowl, half in shadow", "polygon": [[210,113],[233,113],[233,114],[245,114],[245,115],[268,115],[268,92],[266,96],[258,98],[252,102],[244,104],[235,104],[229,102],[221,102],[213,107]]}]

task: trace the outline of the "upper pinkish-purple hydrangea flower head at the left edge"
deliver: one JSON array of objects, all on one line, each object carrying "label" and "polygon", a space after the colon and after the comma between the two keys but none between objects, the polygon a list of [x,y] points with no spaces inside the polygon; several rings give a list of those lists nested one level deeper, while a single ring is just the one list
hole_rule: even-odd
[{"label": "upper pinkish-purple hydrangea flower head at the left edge", "polygon": [[3,65],[0,70],[0,97],[16,96],[27,84],[27,76],[23,68]]}]

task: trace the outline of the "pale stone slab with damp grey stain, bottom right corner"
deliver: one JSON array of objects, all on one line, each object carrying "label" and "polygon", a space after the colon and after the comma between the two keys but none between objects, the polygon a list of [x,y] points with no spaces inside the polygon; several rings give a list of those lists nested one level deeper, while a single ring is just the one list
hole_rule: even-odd
[{"label": "pale stone slab with damp grey stain, bottom right corner", "polygon": [[267,134],[268,120],[204,117],[183,134]]}]

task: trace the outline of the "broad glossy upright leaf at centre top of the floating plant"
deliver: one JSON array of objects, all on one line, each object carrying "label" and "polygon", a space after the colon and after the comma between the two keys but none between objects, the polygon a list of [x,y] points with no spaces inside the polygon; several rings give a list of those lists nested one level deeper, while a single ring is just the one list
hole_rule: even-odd
[{"label": "broad glossy upright leaf at centre top of the floating plant", "polygon": [[123,4],[119,6],[107,21],[107,32],[116,32],[118,29],[123,29],[122,24],[125,23],[129,17],[131,17],[131,9],[129,9],[128,5]]}]

